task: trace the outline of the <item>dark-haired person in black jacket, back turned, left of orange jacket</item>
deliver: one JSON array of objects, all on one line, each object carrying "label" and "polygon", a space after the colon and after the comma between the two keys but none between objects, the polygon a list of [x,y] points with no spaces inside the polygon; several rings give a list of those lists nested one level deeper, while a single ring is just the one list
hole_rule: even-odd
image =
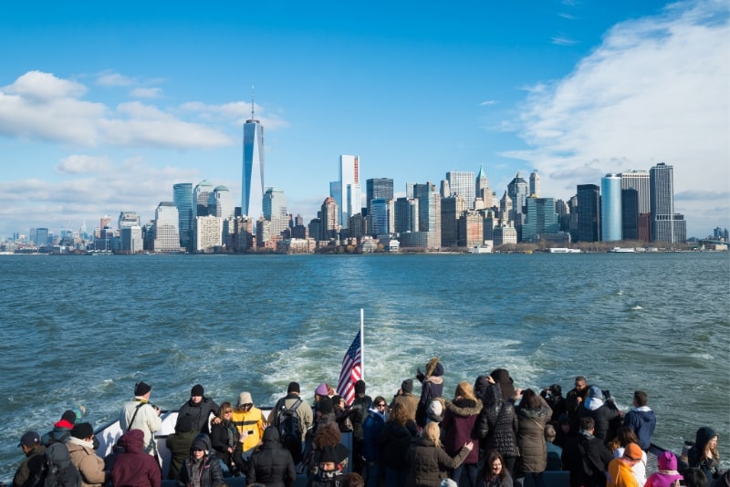
[{"label": "dark-haired person in black jacket, back turned, left of orange jacket", "polygon": [[560,459],[563,470],[570,472],[570,487],[605,487],[606,473],[613,458],[603,441],[593,436],[593,418],[580,420],[575,436],[568,438]]}]

